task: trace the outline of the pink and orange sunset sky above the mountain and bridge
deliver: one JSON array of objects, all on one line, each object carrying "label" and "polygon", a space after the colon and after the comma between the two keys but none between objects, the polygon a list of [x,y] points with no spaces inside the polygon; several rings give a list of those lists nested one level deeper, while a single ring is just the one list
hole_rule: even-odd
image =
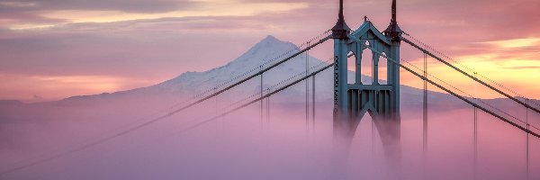
[{"label": "pink and orange sunset sky above the mountain and bridge", "polygon": [[[353,29],[365,15],[379,30],[389,23],[391,0],[345,3]],[[2,1],[0,99],[38,102],[154,85],[221,66],[269,34],[302,43],[332,27],[337,7],[338,0]],[[537,0],[398,0],[398,21],[483,75],[540,98],[538,9]],[[411,61],[421,56],[405,53]],[[430,69],[467,88],[444,67]],[[402,82],[420,85],[411,76]]]}]

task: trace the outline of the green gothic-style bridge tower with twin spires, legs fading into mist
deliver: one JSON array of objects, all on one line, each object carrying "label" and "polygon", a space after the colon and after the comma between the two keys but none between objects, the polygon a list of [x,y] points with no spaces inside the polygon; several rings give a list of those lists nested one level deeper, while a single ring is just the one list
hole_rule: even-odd
[{"label": "green gothic-style bridge tower with twin spires, legs fading into mist", "polygon": [[[400,62],[402,31],[396,18],[396,1],[392,0],[392,19],[388,28],[381,32],[367,18],[356,30],[351,31],[343,15],[343,0],[339,1],[338,23],[332,28],[334,39],[334,135],[349,146],[356,127],[365,113],[369,113],[379,131],[387,156],[399,157],[400,143],[400,67],[387,61],[387,79],[379,80],[379,60],[383,53]],[[361,80],[362,57],[365,46],[372,49],[373,81]],[[375,52],[376,51],[376,52]],[[355,59],[355,82],[347,82],[347,58]],[[397,150],[397,151],[396,151]],[[394,162],[399,162],[394,161]]]}]

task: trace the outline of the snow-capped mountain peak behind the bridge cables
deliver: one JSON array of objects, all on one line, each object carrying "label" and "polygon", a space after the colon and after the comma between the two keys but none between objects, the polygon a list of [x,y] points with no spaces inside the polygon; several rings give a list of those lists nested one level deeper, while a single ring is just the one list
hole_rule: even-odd
[{"label": "snow-capped mountain peak behind the bridge cables", "polygon": [[[267,36],[264,40],[258,42],[254,47],[248,49],[246,53],[239,58],[230,61],[227,65],[213,68],[205,72],[187,72],[166,82],[152,87],[160,88],[169,92],[181,91],[184,93],[194,93],[203,89],[211,89],[213,86],[223,84],[229,80],[238,77],[240,80],[249,75],[256,74],[261,66],[266,68],[275,64],[275,62],[298,52],[298,47],[291,42],[285,42],[275,39],[273,36]],[[284,57],[275,59],[279,55],[286,54]],[[310,57],[310,65],[318,65],[322,61]],[[264,86],[273,85],[280,80],[304,72],[306,69],[306,56],[302,54],[284,63],[264,75]],[[257,80],[257,83],[259,81]],[[252,82],[247,82],[252,83]],[[259,85],[259,84],[257,84]],[[251,85],[250,85],[251,86]],[[260,85],[259,85],[260,86]],[[234,89],[242,93],[250,92],[253,89],[238,88]]]}]

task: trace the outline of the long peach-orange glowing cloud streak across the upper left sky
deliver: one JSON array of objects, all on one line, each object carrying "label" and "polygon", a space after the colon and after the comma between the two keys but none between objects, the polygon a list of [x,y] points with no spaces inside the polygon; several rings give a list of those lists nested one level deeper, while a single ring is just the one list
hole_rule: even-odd
[{"label": "long peach-orange glowing cloud streak across the upper left sky", "polygon": [[[85,1],[86,2],[86,1]],[[145,6],[142,2],[140,6]],[[151,2],[151,1],[148,1]],[[168,1],[166,1],[168,2]],[[110,2],[109,2],[110,3]],[[132,2],[130,2],[132,3]],[[153,2],[159,4],[159,2]],[[178,2],[176,2],[178,3]],[[190,2],[193,3],[193,2]],[[166,3],[164,3],[166,4]],[[4,27],[8,27],[12,30],[26,30],[26,29],[41,29],[44,27],[54,27],[65,23],[113,23],[122,21],[137,21],[137,20],[153,20],[163,18],[179,18],[179,17],[196,17],[196,16],[253,16],[256,14],[266,14],[275,12],[287,12],[295,9],[301,9],[307,7],[306,3],[239,3],[235,1],[215,1],[215,2],[197,2],[197,5],[189,8],[189,6],[182,6],[182,8],[171,8],[174,5],[165,5],[166,11],[159,12],[146,12],[146,11],[126,11],[121,8],[115,8],[114,2],[112,5],[101,4],[94,5],[82,5],[85,8],[79,9],[77,6],[55,6],[50,9],[45,6],[41,7],[39,12],[32,11],[12,11],[16,14],[31,14],[31,17],[21,18],[20,16],[14,16],[12,18],[4,18]],[[40,6],[40,5],[36,5]],[[133,5],[138,6],[138,5]],[[150,5],[151,6],[151,5]],[[124,7],[119,5],[119,7]],[[146,7],[146,6],[145,6]],[[31,21],[23,21],[23,20]],[[57,20],[57,22],[47,22],[46,20]],[[62,22],[63,21],[63,22]]]}]

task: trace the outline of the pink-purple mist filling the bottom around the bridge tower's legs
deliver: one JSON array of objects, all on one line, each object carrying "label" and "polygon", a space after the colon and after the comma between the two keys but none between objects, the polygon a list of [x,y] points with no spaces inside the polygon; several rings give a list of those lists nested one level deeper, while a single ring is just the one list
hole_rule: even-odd
[{"label": "pink-purple mist filling the bottom around the bridge tower's legs", "polygon": [[[431,108],[423,149],[422,110],[401,110],[400,159],[387,156],[369,115],[345,151],[337,151],[329,102],[306,120],[305,104],[260,103],[214,121],[215,102],[80,151],[0,176],[0,179],[526,179],[526,134],[479,112],[474,166],[473,108]],[[136,105],[42,105],[35,116],[3,121],[0,169],[103,139],[163,109]],[[153,107],[153,108],[150,108]],[[11,107],[10,111],[16,111]],[[48,108],[48,109],[43,109]],[[6,110],[6,108],[3,108]],[[13,113],[11,113],[13,114]],[[7,117],[8,112],[3,112]],[[11,116],[10,116],[11,117]],[[202,123],[203,122],[203,123]],[[540,139],[529,137],[530,179],[539,179]],[[338,155],[337,155],[338,154]],[[339,160],[336,160],[339,158]],[[23,159],[30,159],[21,161]],[[396,162],[398,161],[398,162]],[[476,173],[474,171],[476,169]]]}]

